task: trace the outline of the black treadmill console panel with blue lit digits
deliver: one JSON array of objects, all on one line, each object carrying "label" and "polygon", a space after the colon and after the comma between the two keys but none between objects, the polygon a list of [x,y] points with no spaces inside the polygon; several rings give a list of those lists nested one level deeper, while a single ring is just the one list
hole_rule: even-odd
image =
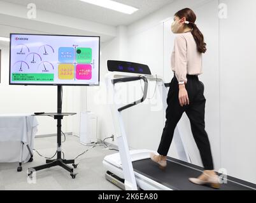
[{"label": "black treadmill console panel with blue lit digits", "polygon": [[108,60],[108,71],[110,72],[129,72],[132,74],[151,75],[148,65]]}]

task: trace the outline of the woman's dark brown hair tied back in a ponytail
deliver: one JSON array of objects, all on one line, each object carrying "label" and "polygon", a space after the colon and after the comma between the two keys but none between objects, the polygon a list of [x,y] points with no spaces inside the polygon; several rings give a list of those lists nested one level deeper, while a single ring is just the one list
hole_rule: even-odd
[{"label": "woman's dark brown hair tied back in a ponytail", "polygon": [[187,24],[190,29],[192,29],[192,35],[197,44],[197,51],[199,53],[206,53],[206,43],[204,43],[204,36],[202,32],[198,29],[196,22],[196,14],[190,8],[184,8],[183,10],[178,11],[175,16],[178,16],[180,19],[185,17],[189,22]]}]

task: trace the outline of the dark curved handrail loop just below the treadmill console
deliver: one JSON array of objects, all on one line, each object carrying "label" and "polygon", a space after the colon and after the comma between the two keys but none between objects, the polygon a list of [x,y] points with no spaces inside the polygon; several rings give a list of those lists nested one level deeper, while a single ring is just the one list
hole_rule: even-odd
[{"label": "dark curved handrail loop just below the treadmill console", "polygon": [[125,105],[124,107],[118,108],[118,112],[122,112],[122,110],[125,110],[127,108],[133,107],[135,105],[138,105],[139,103],[143,103],[143,101],[146,100],[146,95],[148,93],[148,79],[146,79],[145,76],[141,75],[138,77],[122,77],[118,79],[113,79],[112,82],[113,84],[117,84],[118,82],[131,82],[131,81],[139,81],[139,80],[144,81],[144,91],[143,91],[143,97],[140,100],[134,101],[132,103],[129,103],[128,105]]}]

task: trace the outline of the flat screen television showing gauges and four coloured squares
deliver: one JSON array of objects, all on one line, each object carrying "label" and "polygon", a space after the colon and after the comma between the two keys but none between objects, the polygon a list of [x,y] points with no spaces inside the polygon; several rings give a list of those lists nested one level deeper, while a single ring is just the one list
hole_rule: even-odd
[{"label": "flat screen television showing gauges and four coloured squares", "polygon": [[99,86],[99,36],[10,34],[13,85]]}]

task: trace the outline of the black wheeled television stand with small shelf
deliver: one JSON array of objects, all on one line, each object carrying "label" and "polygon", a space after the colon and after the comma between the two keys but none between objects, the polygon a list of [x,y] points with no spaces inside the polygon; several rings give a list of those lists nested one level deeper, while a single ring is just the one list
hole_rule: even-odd
[{"label": "black wheeled television stand with small shelf", "polygon": [[[61,158],[61,120],[64,116],[75,115],[76,113],[62,113],[62,86],[58,86],[57,94],[57,113],[45,113],[36,116],[50,116],[57,120],[57,159],[50,160],[46,159],[46,164],[36,167],[31,167],[28,169],[28,176],[32,178],[32,173],[34,171],[39,171],[53,166],[60,166],[67,171],[69,171],[72,178],[76,178],[76,173],[74,173],[73,167],[76,168],[75,160],[66,160]],[[68,166],[68,164],[73,164],[73,167]]]}]

